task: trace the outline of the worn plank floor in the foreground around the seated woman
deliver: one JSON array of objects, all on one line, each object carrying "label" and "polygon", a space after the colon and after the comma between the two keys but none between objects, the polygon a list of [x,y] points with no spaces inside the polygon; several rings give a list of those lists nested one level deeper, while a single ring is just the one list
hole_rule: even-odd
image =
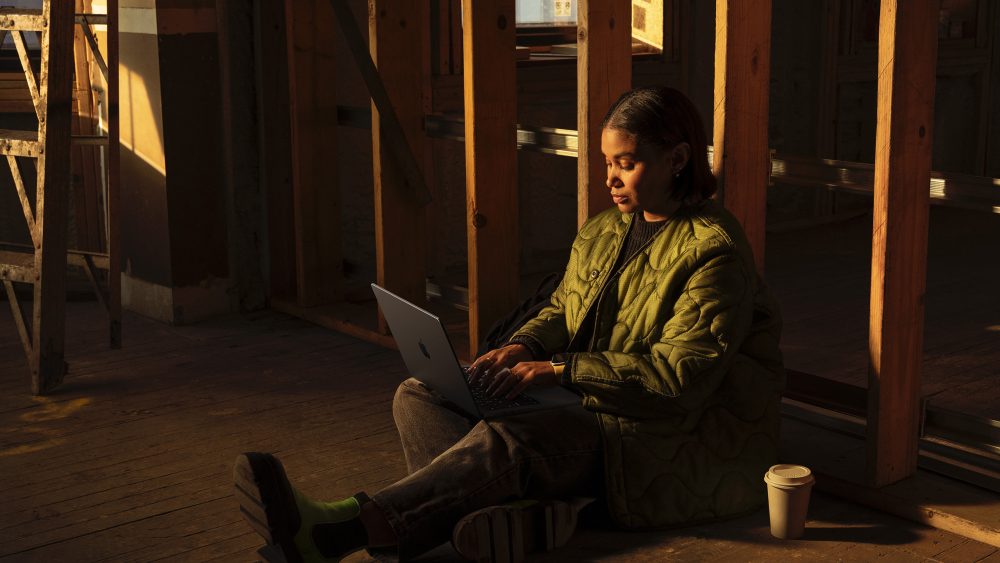
[{"label": "worn plank floor in the foreground around the seated woman", "polygon": [[[276,452],[308,494],[375,491],[404,473],[390,403],[397,353],[278,313],[174,328],[126,314],[106,347],[70,303],[71,371],[31,397],[0,307],[0,561],[254,561],[231,496],[241,451]],[[352,557],[365,560],[363,554]],[[429,560],[455,560],[447,547]],[[996,548],[814,496],[804,539],[767,515],[676,531],[579,533],[549,561],[1000,561]]]}]

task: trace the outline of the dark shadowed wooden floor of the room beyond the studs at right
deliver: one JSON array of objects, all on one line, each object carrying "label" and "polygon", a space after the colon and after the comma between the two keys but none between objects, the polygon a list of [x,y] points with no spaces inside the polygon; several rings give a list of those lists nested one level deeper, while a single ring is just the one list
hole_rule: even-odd
[{"label": "dark shadowed wooden floor of the room beyond the studs at right", "polygon": [[[867,387],[871,215],[769,233],[788,368]],[[931,207],[923,393],[1000,420],[1000,215]]]}]

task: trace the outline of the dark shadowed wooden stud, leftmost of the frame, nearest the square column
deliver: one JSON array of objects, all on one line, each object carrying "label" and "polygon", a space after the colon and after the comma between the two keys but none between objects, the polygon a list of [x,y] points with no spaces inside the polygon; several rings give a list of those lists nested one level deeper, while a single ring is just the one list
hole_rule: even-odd
[{"label": "dark shadowed wooden stud, leftmost of the frame, nearest the square column", "polygon": [[343,290],[340,190],[329,171],[337,154],[334,22],[325,0],[293,0],[286,10],[296,284],[298,303],[309,307]]}]

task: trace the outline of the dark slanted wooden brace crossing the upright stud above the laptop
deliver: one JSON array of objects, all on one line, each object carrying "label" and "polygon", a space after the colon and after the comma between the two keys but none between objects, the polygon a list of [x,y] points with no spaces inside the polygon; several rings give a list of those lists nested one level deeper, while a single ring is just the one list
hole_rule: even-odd
[{"label": "dark slanted wooden brace crossing the upright stud above the laptop", "polygon": [[351,49],[351,54],[354,55],[354,61],[358,63],[361,76],[365,79],[368,93],[371,94],[375,108],[378,109],[382,127],[386,133],[382,137],[382,141],[389,148],[396,163],[399,164],[403,172],[403,180],[409,186],[414,199],[420,205],[427,205],[433,199],[431,192],[427,189],[424,174],[417,165],[413,150],[406,141],[403,126],[399,123],[399,117],[396,116],[396,111],[392,107],[389,93],[378,75],[378,69],[375,67],[375,62],[372,61],[365,38],[354,23],[351,9],[342,0],[330,0],[330,5],[333,6],[333,12],[337,16],[337,21],[340,22],[340,29],[344,32],[344,38],[347,40],[347,46]]}]

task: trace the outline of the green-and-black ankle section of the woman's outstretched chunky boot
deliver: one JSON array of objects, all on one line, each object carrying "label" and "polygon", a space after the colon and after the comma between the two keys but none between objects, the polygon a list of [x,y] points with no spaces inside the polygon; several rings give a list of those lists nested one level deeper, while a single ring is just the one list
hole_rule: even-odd
[{"label": "green-and-black ankle section of the woman's outstretched chunky boot", "polygon": [[[360,518],[361,504],[367,497],[359,494],[335,502],[317,502],[295,487],[292,492],[302,518],[295,547],[304,560],[339,558],[368,544],[368,532]],[[363,498],[359,501],[358,497]]]}]

